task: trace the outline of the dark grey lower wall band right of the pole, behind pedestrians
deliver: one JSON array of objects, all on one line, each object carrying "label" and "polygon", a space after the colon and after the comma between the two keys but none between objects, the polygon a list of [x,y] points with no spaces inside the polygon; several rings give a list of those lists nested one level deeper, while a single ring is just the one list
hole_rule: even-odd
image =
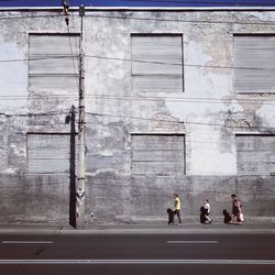
[{"label": "dark grey lower wall band right of the pole, behind pedestrians", "polygon": [[275,204],[272,177],[116,178],[105,174],[101,177],[89,177],[88,188],[89,194],[92,194],[88,199],[88,212],[94,212],[98,220],[165,219],[166,209],[173,207],[174,191],[182,198],[182,212],[185,217],[199,217],[199,208],[206,198],[211,202],[212,216],[221,216],[223,209],[231,211],[231,194],[239,195],[246,217],[273,217],[271,209]]}]

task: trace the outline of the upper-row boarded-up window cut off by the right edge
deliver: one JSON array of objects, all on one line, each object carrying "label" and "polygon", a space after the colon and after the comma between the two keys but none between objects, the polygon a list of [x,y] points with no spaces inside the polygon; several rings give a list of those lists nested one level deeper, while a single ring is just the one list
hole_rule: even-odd
[{"label": "upper-row boarded-up window cut off by the right edge", "polygon": [[275,92],[275,35],[234,36],[234,88]]}]

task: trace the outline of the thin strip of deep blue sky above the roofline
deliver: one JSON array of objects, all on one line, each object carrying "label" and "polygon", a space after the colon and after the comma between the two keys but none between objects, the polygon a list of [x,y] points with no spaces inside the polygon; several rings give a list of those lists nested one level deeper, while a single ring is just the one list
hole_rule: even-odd
[{"label": "thin strip of deep blue sky above the roofline", "polygon": [[[0,7],[61,7],[62,0],[0,0]],[[70,7],[275,7],[275,0],[68,0]]]}]

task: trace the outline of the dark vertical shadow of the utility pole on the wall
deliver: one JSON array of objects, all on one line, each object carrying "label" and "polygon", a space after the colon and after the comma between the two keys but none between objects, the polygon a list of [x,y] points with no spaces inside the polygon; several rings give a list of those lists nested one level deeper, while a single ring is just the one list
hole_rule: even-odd
[{"label": "dark vertical shadow of the utility pole on the wall", "polygon": [[72,106],[66,124],[70,122],[69,148],[69,224],[76,227],[76,108]]}]

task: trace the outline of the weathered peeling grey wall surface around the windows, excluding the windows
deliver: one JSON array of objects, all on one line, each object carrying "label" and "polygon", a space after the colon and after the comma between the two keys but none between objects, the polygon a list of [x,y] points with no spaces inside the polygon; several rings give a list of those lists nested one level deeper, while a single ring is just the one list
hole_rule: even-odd
[{"label": "weathered peeling grey wall surface around the windows, excluding the windows", "polygon": [[[74,92],[28,89],[29,33],[67,33],[57,14],[0,12],[1,221],[69,220],[69,175],[31,175],[26,160],[26,134],[69,133],[65,118],[78,105]],[[275,134],[275,96],[233,87],[233,34],[275,33],[274,20],[275,11],[86,12],[87,221],[165,217],[174,191],[186,216],[206,198],[219,216],[232,193],[248,216],[274,216],[274,177],[237,175],[235,133]],[[79,33],[78,16],[69,31]],[[132,90],[133,33],[183,34],[184,92]],[[185,134],[186,175],[132,175],[131,133]]]}]

